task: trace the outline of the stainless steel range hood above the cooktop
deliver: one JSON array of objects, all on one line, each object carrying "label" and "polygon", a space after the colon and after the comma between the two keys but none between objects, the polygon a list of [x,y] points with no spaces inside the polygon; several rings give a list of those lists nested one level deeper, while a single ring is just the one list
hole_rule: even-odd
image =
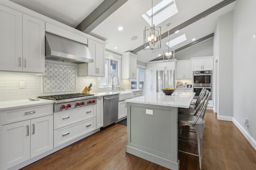
[{"label": "stainless steel range hood above the cooktop", "polygon": [[93,63],[88,47],[82,43],[45,33],[45,59],[67,63]]}]

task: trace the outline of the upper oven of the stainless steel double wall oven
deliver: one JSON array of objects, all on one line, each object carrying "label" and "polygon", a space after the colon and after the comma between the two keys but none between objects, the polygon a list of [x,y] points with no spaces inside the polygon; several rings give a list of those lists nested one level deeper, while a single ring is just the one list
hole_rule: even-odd
[{"label": "upper oven of the stainless steel double wall oven", "polygon": [[193,71],[193,85],[212,87],[212,70]]}]

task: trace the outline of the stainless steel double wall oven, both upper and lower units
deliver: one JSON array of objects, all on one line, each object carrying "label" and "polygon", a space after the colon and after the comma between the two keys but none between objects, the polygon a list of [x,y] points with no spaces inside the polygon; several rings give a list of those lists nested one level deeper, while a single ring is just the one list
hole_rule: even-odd
[{"label": "stainless steel double wall oven, both upper and lower units", "polygon": [[212,70],[193,71],[193,92],[196,93],[194,98],[198,98],[203,88],[212,92]]}]

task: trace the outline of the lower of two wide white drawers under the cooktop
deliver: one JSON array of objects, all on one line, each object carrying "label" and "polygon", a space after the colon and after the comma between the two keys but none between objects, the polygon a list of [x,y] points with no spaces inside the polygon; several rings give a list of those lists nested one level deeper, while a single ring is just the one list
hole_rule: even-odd
[{"label": "lower of two wide white drawers under the cooktop", "polygon": [[54,130],[54,147],[96,129],[96,117]]}]

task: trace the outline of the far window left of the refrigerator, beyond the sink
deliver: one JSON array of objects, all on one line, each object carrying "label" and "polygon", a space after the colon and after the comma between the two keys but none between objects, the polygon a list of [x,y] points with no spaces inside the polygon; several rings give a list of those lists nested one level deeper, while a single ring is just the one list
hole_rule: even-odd
[{"label": "far window left of the refrigerator, beyond the sink", "polygon": [[145,86],[145,69],[137,68],[137,78],[131,79],[131,89],[142,90],[144,94],[144,86]]}]

